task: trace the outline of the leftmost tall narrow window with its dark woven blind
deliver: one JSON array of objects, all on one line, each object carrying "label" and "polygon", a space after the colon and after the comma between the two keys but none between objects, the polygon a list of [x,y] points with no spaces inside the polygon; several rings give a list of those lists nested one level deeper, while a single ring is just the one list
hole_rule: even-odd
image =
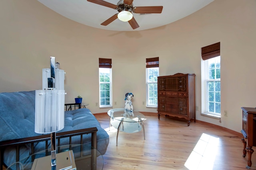
[{"label": "leftmost tall narrow window with its dark woven blind", "polygon": [[99,58],[100,107],[112,107],[112,59]]}]

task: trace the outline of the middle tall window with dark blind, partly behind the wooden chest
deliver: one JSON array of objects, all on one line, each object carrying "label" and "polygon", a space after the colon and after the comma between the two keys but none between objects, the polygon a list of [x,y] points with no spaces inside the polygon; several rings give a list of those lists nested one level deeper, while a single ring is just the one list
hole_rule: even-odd
[{"label": "middle tall window with dark blind, partly behind the wooden chest", "polygon": [[157,77],[159,57],[146,59],[146,106],[157,107]]}]

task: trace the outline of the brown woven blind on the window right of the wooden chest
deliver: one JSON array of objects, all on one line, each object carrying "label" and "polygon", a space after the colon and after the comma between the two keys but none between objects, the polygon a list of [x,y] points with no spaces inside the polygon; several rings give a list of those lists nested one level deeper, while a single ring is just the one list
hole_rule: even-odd
[{"label": "brown woven blind on the window right of the wooden chest", "polygon": [[202,59],[208,60],[220,56],[220,42],[202,47]]}]

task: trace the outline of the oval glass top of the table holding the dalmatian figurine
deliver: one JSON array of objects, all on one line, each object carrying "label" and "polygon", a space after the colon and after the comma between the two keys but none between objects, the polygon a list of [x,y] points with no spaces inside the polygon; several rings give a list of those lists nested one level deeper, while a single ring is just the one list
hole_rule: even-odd
[{"label": "oval glass top of the table holding the dalmatian figurine", "polygon": [[145,116],[138,111],[130,111],[124,108],[110,109],[108,115],[112,119],[116,119],[124,122],[140,122],[145,119]]}]

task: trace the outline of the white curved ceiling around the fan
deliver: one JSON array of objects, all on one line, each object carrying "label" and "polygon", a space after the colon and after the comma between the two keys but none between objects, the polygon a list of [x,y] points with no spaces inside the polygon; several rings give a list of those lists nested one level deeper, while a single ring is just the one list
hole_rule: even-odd
[{"label": "white curved ceiling around the fan", "polygon": [[[135,20],[140,27],[132,29],[128,22],[118,19],[107,26],[100,25],[102,22],[117,14],[118,11],[106,6],[88,2],[87,0],[38,0],[48,8],[60,15],[95,28],[114,31],[139,31],[160,27],[184,18],[214,0],[134,0],[133,6],[163,6],[161,14],[134,14]],[[117,4],[119,0],[105,0]]]}]

